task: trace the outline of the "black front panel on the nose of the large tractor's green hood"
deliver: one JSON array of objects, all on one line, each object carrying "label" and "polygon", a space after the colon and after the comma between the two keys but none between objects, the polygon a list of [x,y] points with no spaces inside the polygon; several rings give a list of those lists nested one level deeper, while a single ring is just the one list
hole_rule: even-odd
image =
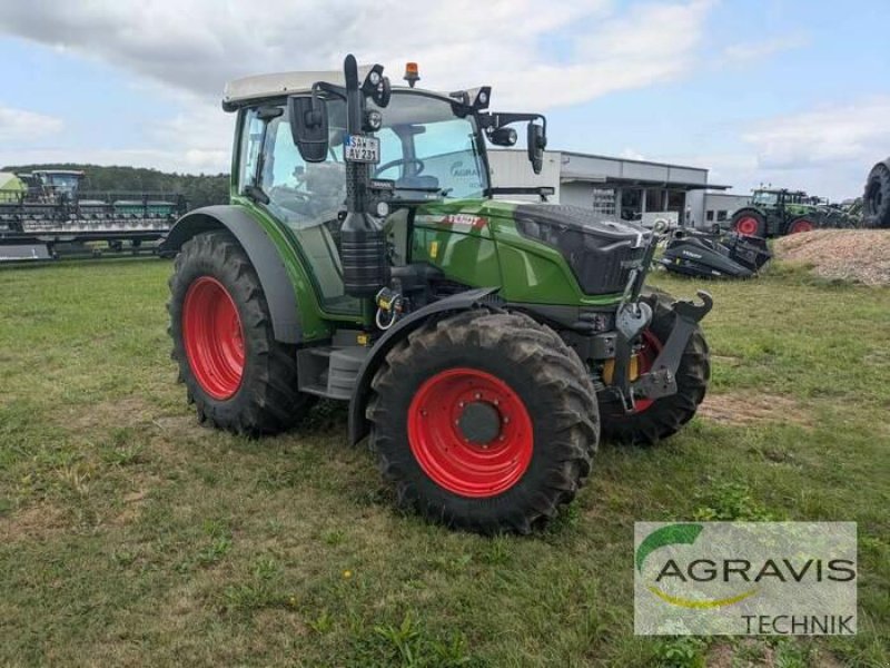
[{"label": "black front panel on the nose of the large tractor's green hood", "polygon": [[520,234],[562,253],[584,294],[622,292],[640,267],[652,233],[602,214],[568,205],[516,207]]}]

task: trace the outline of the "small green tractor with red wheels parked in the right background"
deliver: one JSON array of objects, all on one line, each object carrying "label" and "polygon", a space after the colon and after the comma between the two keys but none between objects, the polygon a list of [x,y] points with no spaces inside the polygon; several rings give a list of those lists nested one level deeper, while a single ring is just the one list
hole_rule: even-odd
[{"label": "small green tractor with red wheels parked in the right background", "polygon": [[742,236],[772,238],[822,227],[854,227],[856,216],[803,190],[758,188],[732,215],[730,228]]}]

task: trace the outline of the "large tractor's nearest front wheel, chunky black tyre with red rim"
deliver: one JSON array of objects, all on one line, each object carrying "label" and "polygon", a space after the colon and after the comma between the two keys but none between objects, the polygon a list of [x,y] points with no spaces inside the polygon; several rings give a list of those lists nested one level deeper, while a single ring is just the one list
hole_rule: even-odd
[{"label": "large tractor's nearest front wheel, chunky black tyre with red rim", "polygon": [[[431,321],[387,354],[372,389],[366,415],[380,471],[399,504],[428,520],[528,533],[590,473],[600,434],[590,376],[526,315],[473,310]],[[465,406],[500,426],[472,442],[456,426]]]}]

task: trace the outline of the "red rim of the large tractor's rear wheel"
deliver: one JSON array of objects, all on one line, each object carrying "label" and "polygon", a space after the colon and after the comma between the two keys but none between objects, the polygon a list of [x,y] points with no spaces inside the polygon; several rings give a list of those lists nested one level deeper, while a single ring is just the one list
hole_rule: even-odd
[{"label": "red rim of the large tractor's rear wheel", "polygon": [[189,286],[182,340],[201,389],[217,400],[233,396],[244,376],[244,331],[231,295],[216,278],[201,276]]}]

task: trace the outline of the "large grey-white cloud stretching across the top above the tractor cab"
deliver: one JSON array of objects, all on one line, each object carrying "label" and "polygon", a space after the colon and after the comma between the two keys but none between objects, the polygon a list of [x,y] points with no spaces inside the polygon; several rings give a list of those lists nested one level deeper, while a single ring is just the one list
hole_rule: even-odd
[{"label": "large grey-white cloud stretching across the top above the tractor cab", "polygon": [[[421,63],[434,88],[490,82],[498,104],[541,108],[673,78],[691,65],[710,0],[418,1],[368,4],[268,0],[260,6],[178,0],[125,3],[32,0],[0,13],[0,30],[96,58],[218,99],[227,79],[337,68],[347,49],[400,78]],[[547,39],[567,58],[548,57]],[[399,81],[400,82],[400,81]]]}]

